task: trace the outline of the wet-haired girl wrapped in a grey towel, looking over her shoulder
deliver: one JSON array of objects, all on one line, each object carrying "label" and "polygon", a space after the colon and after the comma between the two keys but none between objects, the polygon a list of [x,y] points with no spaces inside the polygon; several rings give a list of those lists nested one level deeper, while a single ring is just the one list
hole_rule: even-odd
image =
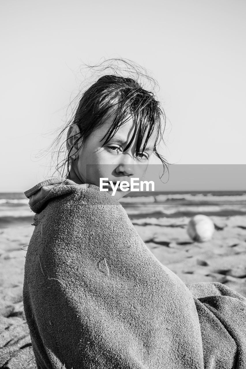
[{"label": "wet-haired girl wrapped in a grey towel, looking over her shoulder", "polygon": [[153,153],[166,164],[164,120],[132,76],[102,76],[66,127],[65,179],[25,192],[36,213],[23,301],[37,368],[245,368],[243,296],[185,286],[118,202],[129,191],[100,191],[100,178],[142,178]]}]

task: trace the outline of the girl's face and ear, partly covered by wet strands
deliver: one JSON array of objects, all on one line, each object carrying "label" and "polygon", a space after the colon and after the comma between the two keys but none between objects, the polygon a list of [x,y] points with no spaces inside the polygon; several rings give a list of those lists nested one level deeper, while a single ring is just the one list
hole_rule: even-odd
[{"label": "girl's face and ear, partly covered by wet strands", "polygon": [[[74,154],[76,153],[75,160],[72,160],[70,179],[78,184],[92,183],[100,187],[100,178],[108,178],[108,180],[103,180],[103,188],[108,189],[110,195],[113,194],[113,188],[109,183],[107,185],[105,184],[107,181],[116,183],[117,181],[122,182],[124,180],[130,184],[131,177],[139,179],[135,183],[142,180],[157,138],[157,132],[153,133],[148,140],[144,152],[142,150],[143,147],[140,147],[141,154],[139,153],[136,157],[135,152],[139,133],[139,129],[137,129],[131,146],[123,152],[135,128],[134,121],[130,118],[120,126],[115,136],[106,145],[103,145],[106,138],[103,140],[102,138],[112,125],[113,118],[108,118],[102,127],[92,132],[77,153],[76,151],[80,146],[79,142],[78,146],[75,145],[70,153],[72,158],[74,158]],[[76,141],[76,137],[73,137],[76,134],[79,134],[79,128],[76,124],[73,124],[68,131],[68,150],[71,149],[73,141]],[[145,142],[145,137],[142,142]],[[140,189],[140,186],[136,186],[135,188]],[[118,186],[114,197],[119,200],[129,192],[130,189],[128,191],[122,191],[120,190],[120,186]]]}]

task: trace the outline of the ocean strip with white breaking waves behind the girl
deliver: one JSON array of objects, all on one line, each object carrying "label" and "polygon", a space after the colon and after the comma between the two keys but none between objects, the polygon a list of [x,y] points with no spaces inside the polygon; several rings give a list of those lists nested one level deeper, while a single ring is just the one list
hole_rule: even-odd
[{"label": "ocean strip with white breaking waves behind the girl", "polygon": [[[131,192],[119,202],[130,220],[246,215],[245,191]],[[0,193],[0,228],[31,224],[33,215],[24,193]]]}]

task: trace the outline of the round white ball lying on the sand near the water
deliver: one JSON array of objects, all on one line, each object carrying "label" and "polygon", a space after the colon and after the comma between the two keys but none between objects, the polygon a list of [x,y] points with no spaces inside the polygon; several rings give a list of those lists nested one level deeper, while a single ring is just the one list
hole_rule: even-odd
[{"label": "round white ball lying on the sand near the water", "polygon": [[206,242],[212,238],[214,224],[206,215],[195,215],[187,225],[187,233],[193,241]]}]

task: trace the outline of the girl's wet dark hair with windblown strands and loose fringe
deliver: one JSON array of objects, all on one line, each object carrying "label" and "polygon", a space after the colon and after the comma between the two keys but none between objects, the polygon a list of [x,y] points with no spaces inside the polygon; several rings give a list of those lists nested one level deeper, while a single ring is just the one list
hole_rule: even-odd
[{"label": "girl's wet dark hair with windblown strands and loose fringe", "polygon": [[[154,93],[143,89],[137,79],[139,79],[139,77],[144,77],[147,78],[149,82],[154,82],[155,85],[157,85],[157,83],[152,77],[139,72],[141,67],[136,65],[136,63],[127,61],[126,59],[109,59],[106,62],[110,61],[112,63],[112,61],[119,60],[127,65],[127,72],[129,72],[129,66],[133,67],[130,70],[130,76],[120,76],[114,70],[114,74],[104,75],[95,83],[93,83],[83,93],[75,110],[75,114],[66,124],[65,128],[59,134],[54,143],[58,145],[59,138],[61,138],[63,132],[69,127],[69,125],[76,124],[79,127],[81,135],[80,137],[76,138],[74,145],[79,141],[79,139],[81,139],[82,146],[90,134],[99,128],[103,123],[105,123],[106,119],[109,118],[110,115],[114,114],[115,117],[106,134],[107,138],[103,144],[105,145],[115,135],[117,129],[129,119],[130,114],[134,118],[136,124],[133,136],[131,137],[129,144],[126,146],[124,151],[126,151],[131,145],[135,137],[137,127],[139,127],[139,136],[137,139],[136,155],[140,152],[144,135],[147,133],[143,151],[147,145],[148,139],[156,129],[158,135],[154,145],[153,153],[161,160],[165,171],[165,167],[168,169],[168,163],[163,156],[158,154],[156,149],[158,138],[160,137],[163,139],[162,129],[164,131],[166,123],[165,113],[160,102],[154,97]],[[102,64],[103,63],[97,65],[97,67],[101,66]],[[95,68],[95,66],[92,66],[91,68]],[[110,65],[110,68],[112,69],[112,65]],[[131,74],[133,74],[133,71],[135,72],[137,79],[132,78]],[[163,123],[164,127],[162,127]],[[65,158],[62,160],[62,162],[57,164],[56,169],[59,171],[62,177],[64,176],[65,168],[66,176],[68,176],[68,178],[70,177],[69,165],[71,163],[71,150],[66,152]],[[58,158],[60,152],[61,147],[58,150]]]}]

